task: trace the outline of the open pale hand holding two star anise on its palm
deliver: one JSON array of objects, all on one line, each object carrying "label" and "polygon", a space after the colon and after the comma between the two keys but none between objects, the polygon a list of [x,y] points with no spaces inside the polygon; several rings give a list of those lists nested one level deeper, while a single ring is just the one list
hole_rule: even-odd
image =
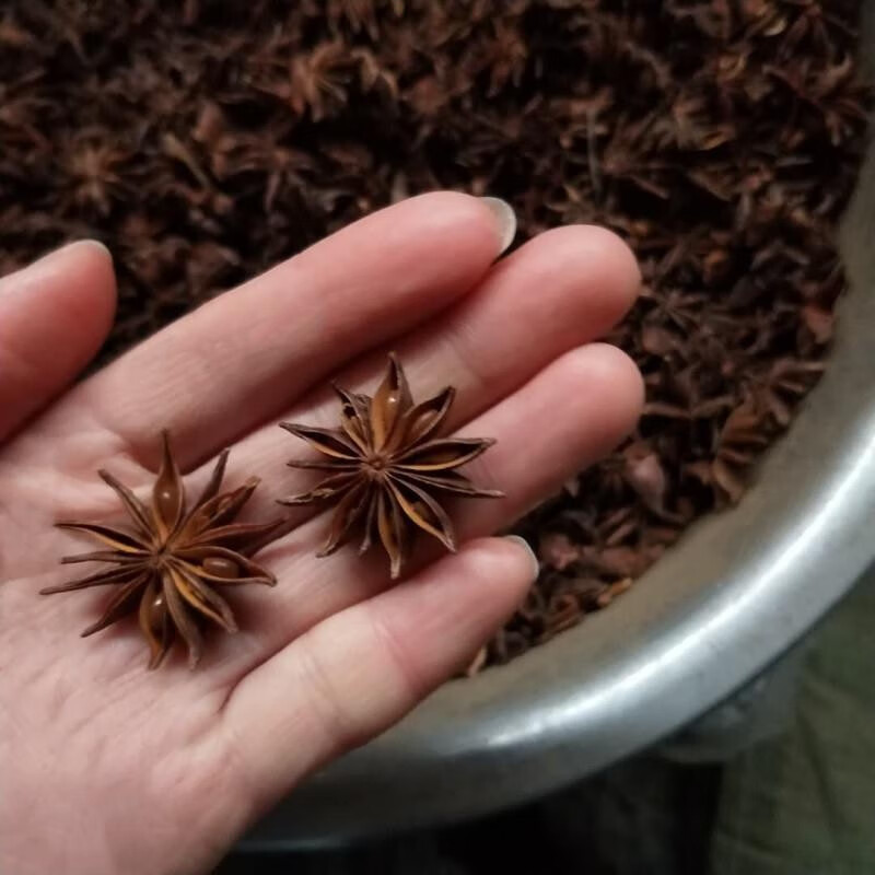
[{"label": "open pale hand holding two star anise on its palm", "polygon": [[[642,384],[597,338],[633,302],[627,247],[597,228],[495,261],[487,206],[439,192],[377,212],[228,292],[70,388],[106,336],[112,259],[73,244],[0,280],[0,871],[201,873],[307,773],[398,721],[500,627],[533,556],[489,537],[634,425]],[[273,590],[231,595],[236,635],[196,673],[158,672],[126,621],[78,632],[105,590],[39,596],[86,547],[60,517],[120,522],[105,467],[139,494],[172,430],[189,494],[231,446],[244,520],[310,485],[281,420],[332,424],[324,388],[372,389],[388,350],[417,397],[458,388],[450,428],[498,443],[466,469],[501,500],[451,504],[458,553],[423,549],[388,587],[378,551],[314,558],[328,514],[292,509],[258,555]],[[189,474],[190,472],[190,474]]]}]

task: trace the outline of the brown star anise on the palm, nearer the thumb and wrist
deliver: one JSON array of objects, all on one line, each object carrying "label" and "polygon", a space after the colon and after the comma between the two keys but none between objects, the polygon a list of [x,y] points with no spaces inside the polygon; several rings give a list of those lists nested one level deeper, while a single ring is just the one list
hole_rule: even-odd
[{"label": "brown star anise on the palm, nearer the thumb and wrist", "polygon": [[151,649],[150,668],[156,668],[178,632],[188,645],[188,664],[194,668],[201,655],[199,620],[210,619],[228,632],[237,625],[218,590],[244,583],[276,584],[276,578],[253,562],[248,555],[264,544],[282,521],[266,524],[235,523],[243,505],[258,486],[250,478],[232,492],[219,493],[229,451],[219,456],[200,498],[186,509],[185,487],[163,433],[164,457],[152,489],[151,506],[107,471],[98,471],[121,499],[133,521],[132,529],[117,529],[93,523],[58,523],[59,528],[84,532],[108,550],[69,556],[62,563],[108,562],[114,565],[43,594],[66,593],[91,586],[115,584],[118,591],[103,616],[82,637],[105,629],[133,610]]}]

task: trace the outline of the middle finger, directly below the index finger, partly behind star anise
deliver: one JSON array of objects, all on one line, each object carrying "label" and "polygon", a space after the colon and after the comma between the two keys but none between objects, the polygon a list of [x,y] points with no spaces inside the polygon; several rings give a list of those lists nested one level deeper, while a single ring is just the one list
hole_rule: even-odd
[{"label": "middle finger, directly below the index finger, partly behind star anise", "polygon": [[[610,330],[635,300],[640,273],[629,247],[602,228],[556,229],[528,242],[490,271],[481,285],[436,322],[394,348],[422,399],[446,385],[456,399],[446,421],[454,429],[530,380],[553,359]],[[386,351],[365,357],[337,376],[348,388],[372,392],[386,365]],[[337,424],[337,398],[319,387],[283,418],[307,424]],[[235,459],[266,481],[304,491],[301,474],[277,477],[306,447],[273,425],[244,440]],[[265,503],[267,500],[265,499]],[[314,515],[291,511],[293,522]]]}]

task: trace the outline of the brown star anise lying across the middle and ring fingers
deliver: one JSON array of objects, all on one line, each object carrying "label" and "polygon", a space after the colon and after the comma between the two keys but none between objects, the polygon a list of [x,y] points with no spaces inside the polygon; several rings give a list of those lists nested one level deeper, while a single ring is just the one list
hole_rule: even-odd
[{"label": "brown star anise lying across the middle and ring fingers", "polygon": [[318,556],[334,552],[360,522],[364,528],[360,552],[378,537],[389,556],[393,579],[400,574],[417,528],[455,551],[453,524],[430,493],[500,498],[502,492],[477,489],[456,470],[494,441],[435,438],[455,389],[448,386],[415,405],[394,354],[373,398],[338,386],[334,389],[341,404],[339,429],[281,423],[327,456],[290,462],[293,468],[316,468],[329,475],[315,489],[280,502],[338,502],[328,539]]}]

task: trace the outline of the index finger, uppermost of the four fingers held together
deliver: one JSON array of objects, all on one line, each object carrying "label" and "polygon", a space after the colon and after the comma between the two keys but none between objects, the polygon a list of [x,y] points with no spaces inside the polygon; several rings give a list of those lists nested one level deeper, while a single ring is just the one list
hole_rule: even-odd
[{"label": "index finger, uppermost of the four fingers held together", "polygon": [[506,245],[490,202],[439,192],[362,219],[159,332],[84,400],[135,450],[151,455],[161,410],[180,464],[209,456],[475,285]]}]

